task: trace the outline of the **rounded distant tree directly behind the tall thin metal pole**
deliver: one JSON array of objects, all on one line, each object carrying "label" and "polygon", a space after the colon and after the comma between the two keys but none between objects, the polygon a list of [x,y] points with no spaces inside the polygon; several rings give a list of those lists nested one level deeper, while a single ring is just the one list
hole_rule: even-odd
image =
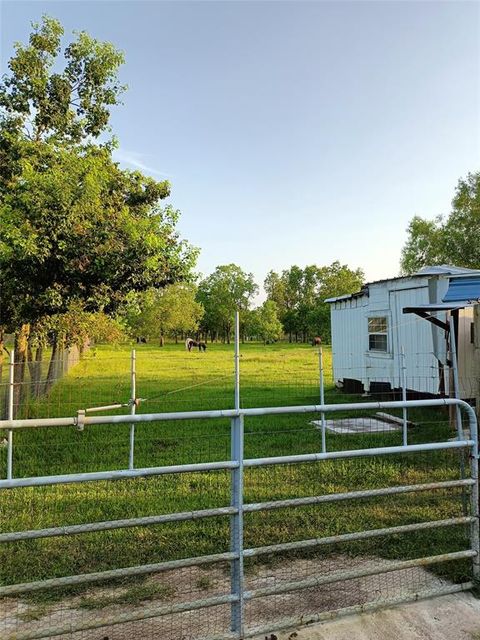
[{"label": "rounded distant tree directly behind the tall thin metal pole", "polygon": [[235,311],[248,309],[257,291],[252,273],[235,264],[218,266],[198,286],[198,300],[205,309],[204,333],[212,340],[220,335],[229,343]]}]

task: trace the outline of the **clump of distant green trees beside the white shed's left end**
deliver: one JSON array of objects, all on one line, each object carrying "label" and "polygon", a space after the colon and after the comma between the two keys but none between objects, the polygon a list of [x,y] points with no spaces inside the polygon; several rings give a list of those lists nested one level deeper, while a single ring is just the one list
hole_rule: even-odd
[{"label": "clump of distant green trees beside the white shed's left end", "polygon": [[329,266],[293,266],[282,273],[270,271],[264,283],[267,298],[276,303],[290,341],[320,336],[330,339],[330,308],[326,298],[358,291],[364,282],[361,269],[340,262]]}]

